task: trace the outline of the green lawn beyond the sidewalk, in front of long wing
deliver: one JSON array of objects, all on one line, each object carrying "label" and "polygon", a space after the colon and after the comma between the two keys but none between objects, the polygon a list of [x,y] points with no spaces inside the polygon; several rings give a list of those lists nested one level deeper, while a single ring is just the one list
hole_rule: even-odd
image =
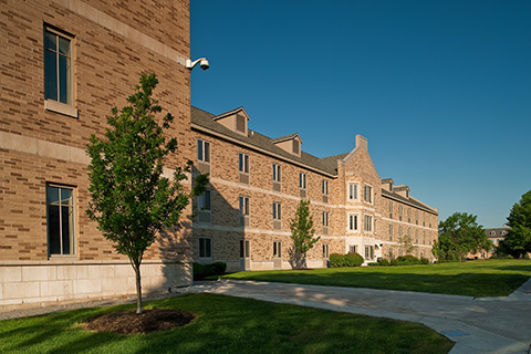
[{"label": "green lawn beyond the sidewalk, in front of long wing", "polygon": [[407,267],[247,271],[223,278],[469,296],[506,296],[531,278],[531,261],[504,259]]}]

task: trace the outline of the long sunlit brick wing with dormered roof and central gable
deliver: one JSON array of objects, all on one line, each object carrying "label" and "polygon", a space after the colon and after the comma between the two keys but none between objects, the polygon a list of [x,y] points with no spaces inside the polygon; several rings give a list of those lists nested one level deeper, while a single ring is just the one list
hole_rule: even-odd
[{"label": "long sunlit brick wing with dormered roof and central gable", "polygon": [[407,186],[382,179],[367,139],[352,152],[317,158],[302,150],[299,134],[270,138],[249,128],[240,107],[214,115],[191,107],[196,173],[210,186],[195,200],[195,259],[228,269],[294,267],[290,221],[309,199],[315,236],[308,267],[326,267],[331,253],[357,252],[365,262],[404,253],[434,260],[438,211],[409,195]]}]

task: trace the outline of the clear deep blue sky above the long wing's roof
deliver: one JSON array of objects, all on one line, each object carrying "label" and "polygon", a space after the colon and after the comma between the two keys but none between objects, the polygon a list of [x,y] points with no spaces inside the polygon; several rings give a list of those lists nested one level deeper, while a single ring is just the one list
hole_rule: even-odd
[{"label": "clear deep blue sky above the long wing's roof", "polygon": [[531,1],[191,0],[191,103],[501,227],[531,189]]}]

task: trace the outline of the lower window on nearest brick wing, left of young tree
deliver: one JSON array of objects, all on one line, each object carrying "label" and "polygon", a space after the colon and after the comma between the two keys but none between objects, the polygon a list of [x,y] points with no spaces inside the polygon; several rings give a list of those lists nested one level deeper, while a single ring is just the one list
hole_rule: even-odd
[{"label": "lower window on nearest brick wing, left of young tree", "polygon": [[50,254],[74,254],[73,189],[46,185],[48,249]]}]

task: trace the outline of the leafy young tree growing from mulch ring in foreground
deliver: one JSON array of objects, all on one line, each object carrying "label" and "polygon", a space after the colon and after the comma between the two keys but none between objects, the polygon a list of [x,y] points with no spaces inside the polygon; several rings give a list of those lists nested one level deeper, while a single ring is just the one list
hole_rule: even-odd
[{"label": "leafy young tree growing from mulch ring in foreground", "polygon": [[119,113],[112,108],[111,128],[104,138],[94,134],[87,145],[91,201],[86,211],[103,236],[113,241],[118,253],[128,257],[136,275],[137,313],[142,313],[140,263],[144,251],[157,232],[178,222],[192,196],[204,192],[208,177],[194,181],[190,192],[180,181],[191,170],[191,162],[177,167],[173,179],[163,177],[165,158],[177,149],[176,138],[167,139],[164,131],[174,117],[167,113],[162,125],[155,114],[162,112],[152,93],[158,81],[155,74],[142,75],[131,104]]}]

